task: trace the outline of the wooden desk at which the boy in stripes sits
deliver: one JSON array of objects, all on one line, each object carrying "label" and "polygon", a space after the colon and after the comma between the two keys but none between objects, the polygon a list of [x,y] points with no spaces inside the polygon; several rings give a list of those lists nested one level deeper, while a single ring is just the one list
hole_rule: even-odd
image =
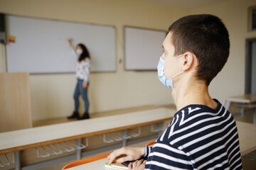
[{"label": "wooden desk at which the boy in stripes sits", "polygon": [[[248,154],[256,149],[256,125],[251,123],[236,122],[238,127],[238,135],[240,141],[240,152],[241,156]],[[104,164],[107,159],[100,159],[95,162],[90,162],[87,164],[82,164],[80,166],[75,166],[67,170],[82,170],[82,169],[97,169],[105,170]]]}]

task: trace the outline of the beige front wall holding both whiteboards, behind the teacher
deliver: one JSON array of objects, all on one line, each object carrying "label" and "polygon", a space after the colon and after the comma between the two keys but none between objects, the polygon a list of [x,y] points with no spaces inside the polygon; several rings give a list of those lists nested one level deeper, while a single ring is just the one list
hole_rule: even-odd
[{"label": "beige front wall holding both whiteboards, behind the teacher", "polygon": [[[167,30],[182,11],[136,0],[1,0],[0,12],[116,27],[117,72],[91,74],[90,113],[173,103],[171,91],[161,84],[156,72],[124,71],[123,27]],[[69,115],[74,109],[75,83],[75,74],[32,74],[33,120]]]}]

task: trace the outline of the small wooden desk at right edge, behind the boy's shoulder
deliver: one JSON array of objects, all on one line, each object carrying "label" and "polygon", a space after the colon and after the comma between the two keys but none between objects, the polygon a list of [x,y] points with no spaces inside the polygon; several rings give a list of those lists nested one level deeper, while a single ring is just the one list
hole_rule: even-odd
[{"label": "small wooden desk at right edge, behind the boy's shoulder", "polygon": [[255,94],[245,94],[242,96],[233,96],[225,99],[225,108],[230,108],[230,103],[240,104],[240,115],[244,114],[245,107],[255,108],[255,113],[253,115],[253,123],[256,124],[256,93]]}]

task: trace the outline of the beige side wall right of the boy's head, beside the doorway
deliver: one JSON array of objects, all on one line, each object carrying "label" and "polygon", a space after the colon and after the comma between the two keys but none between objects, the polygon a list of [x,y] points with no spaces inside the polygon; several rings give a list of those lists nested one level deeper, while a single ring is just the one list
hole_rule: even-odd
[{"label": "beige side wall right of the boy's head, beside the doorway", "polygon": [[[248,30],[248,11],[255,0],[225,0],[217,4],[195,8],[191,14],[210,13],[219,16],[230,35],[230,56],[223,70],[210,84],[210,94],[220,98],[245,94],[245,40],[256,38],[256,30]],[[256,67],[256,66],[255,66]]]}]

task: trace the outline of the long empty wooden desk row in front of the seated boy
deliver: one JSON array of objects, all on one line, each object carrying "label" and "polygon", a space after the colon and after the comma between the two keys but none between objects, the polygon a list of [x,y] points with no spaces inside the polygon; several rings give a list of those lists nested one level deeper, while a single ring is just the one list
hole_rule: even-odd
[{"label": "long empty wooden desk row in front of the seated boy", "polygon": [[[69,140],[82,140],[84,137],[104,135],[144,125],[164,123],[174,116],[174,109],[156,108],[147,111],[111,115],[102,118],[91,118],[57,125],[47,125],[38,128],[15,130],[0,133],[0,154],[15,152],[16,169],[20,169],[19,151],[29,148],[56,144]],[[126,141],[127,139],[123,140]],[[77,159],[81,157],[81,150],[77,149]]]}]

